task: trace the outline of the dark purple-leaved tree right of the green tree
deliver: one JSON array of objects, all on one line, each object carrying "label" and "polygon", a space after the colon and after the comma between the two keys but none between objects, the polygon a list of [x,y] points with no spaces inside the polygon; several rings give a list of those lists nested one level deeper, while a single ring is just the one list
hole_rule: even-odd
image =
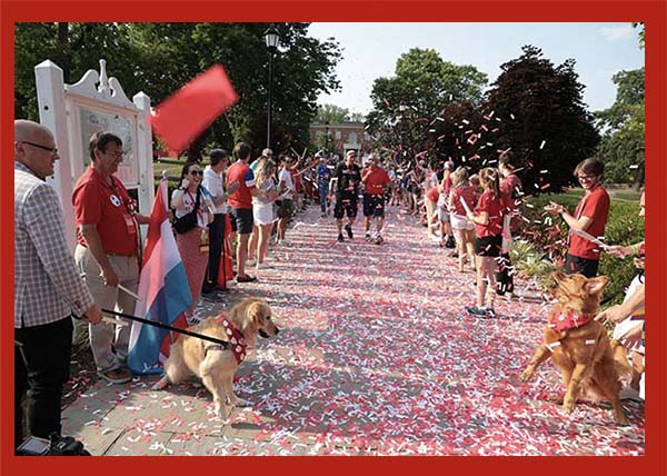
[{"label": "dark purple-leaved tree right of the green tree", "polygon": [[500,67],[482,110],[495,115],[494,148],[511,148],[525,167],[526,191],[559,191],[575,184],[573,170],[593,157],[599,136],[581,98],[575,61],[555,67],[539,48],[525,46],[522,51]]}]

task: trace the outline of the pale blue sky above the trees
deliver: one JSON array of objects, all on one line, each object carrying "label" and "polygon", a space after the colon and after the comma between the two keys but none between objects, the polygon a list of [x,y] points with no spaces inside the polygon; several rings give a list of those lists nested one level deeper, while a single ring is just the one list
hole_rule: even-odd
[{"label": "pale blue sky above the trees", "polygon": [[367,113],[370,92],[379,77],[392,77],[396,60],[410,48],[431,48],[445,61],[472,65],[488,75],[489,85],[500,65],[521,56],[532,44],[555,66],[576,60],[575,71],[586,86],[584,102],[594,110],[614,103],[611,76],[644,66],[644,50],[630,23],[312,23],[309,34],[334,37],[344,59],[336,72],[342,90],[320,95],[318,103],[332,103]]}]

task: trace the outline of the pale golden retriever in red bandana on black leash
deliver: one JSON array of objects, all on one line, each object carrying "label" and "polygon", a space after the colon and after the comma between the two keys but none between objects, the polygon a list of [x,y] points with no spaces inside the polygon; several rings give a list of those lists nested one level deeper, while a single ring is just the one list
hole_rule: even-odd
[{"label": "pale golden retriever in red bandana on black leash", "polygon": [[152,388],[160,390],[195,375],[212,394],[216,415],[227,419],[230,413],[227,406],[249,405],[233,393],[233,375],[246,357],[246,349],[256,346],[258,334],[268,338],[279,333],[271,320],[271,308],[263,299],[246,298],[228,313],[188,330],[223,340],[228,345],[180,335],[171,344],[165,375]]}]

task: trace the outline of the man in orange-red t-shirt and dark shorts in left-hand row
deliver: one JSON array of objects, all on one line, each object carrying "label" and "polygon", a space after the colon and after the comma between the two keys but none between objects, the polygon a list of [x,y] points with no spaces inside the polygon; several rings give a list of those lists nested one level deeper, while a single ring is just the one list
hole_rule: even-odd
[{"label": "man in orange-red t-shirt and dark shorts in left-hand row", "polygon": [[252,232],[252,197],[259,192],[255,187],[255,175],[248,167],[250,160],[250,146],[238,142],[233,148],[236,162],[227,170],[227,187],[236,191],[229,195],[227,202],[231,207],[231,229],[237,231],[237,282],[256,281],[255,276],[246,274],[246,259],[248,258],[248,239]]}]

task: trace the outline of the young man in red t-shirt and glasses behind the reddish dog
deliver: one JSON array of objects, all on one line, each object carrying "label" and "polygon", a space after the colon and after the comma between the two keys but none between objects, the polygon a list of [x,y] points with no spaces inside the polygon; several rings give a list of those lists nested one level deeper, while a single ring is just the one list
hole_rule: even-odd
[{"label": "young man in red t-shirt and glasses behind the reddish dog", "polygon": [[568,274],[579,272],[587,278],[597,276],[600,262],[599,246],[577,235],[576,231],[586,231],[594,238],[604,238],[609,217],[609,195],[603,188],[604,170],[603,162],[596,159],[579,162],[575,169],[575,177],[579,179],[586,194],[579,200],[574,215],[570,215],[563,205],[552,201],[545,207],[545,211],[560,215],[570,227],[569,247],[565,259],[565,271]]}]

